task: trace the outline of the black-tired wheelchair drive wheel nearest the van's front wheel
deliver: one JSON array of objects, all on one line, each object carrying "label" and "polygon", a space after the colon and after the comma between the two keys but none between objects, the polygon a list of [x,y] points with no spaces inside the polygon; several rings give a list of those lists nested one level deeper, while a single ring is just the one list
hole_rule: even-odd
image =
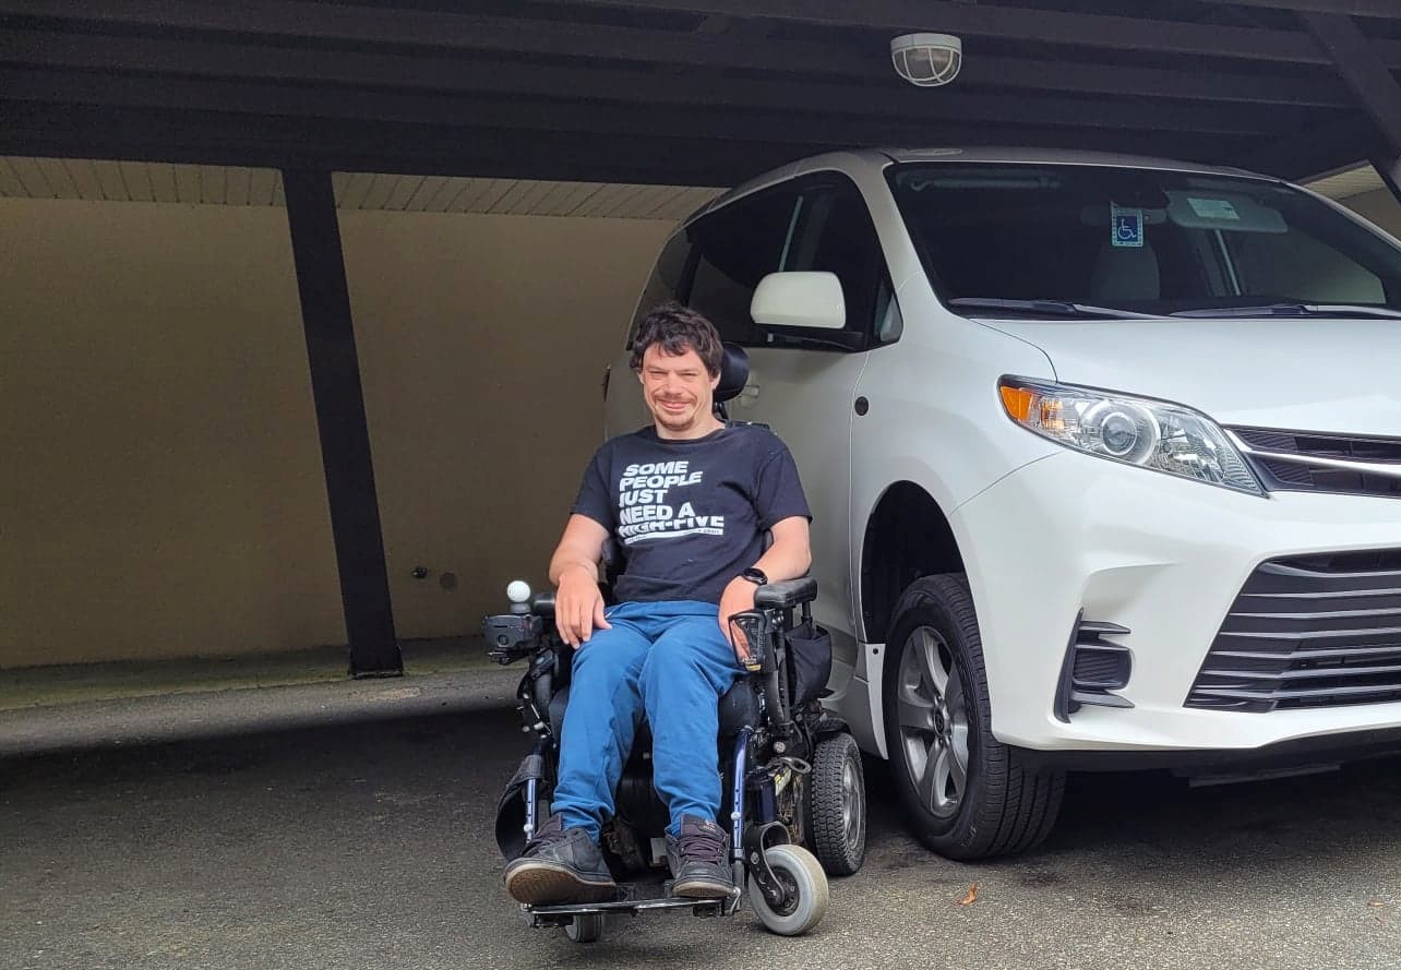
[{"label": "black-tired wheelchair drive wheel nearest the van's front wheel", "polygon": [[850,876],[866,859],[866,781],[862,751],[848,733],[817,743],[808,775],[808,841],[832,876]]}]

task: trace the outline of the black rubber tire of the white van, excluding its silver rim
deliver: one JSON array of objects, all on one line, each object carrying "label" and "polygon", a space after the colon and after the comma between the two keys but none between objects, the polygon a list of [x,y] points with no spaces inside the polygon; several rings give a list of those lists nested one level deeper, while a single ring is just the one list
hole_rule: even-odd
[{"label": "black rubber tire of the white van, excluding its silver rim", "polygon": [[[920,796],[899,723],[901,670],[906,653],[920,649],[916,635],[933,638],[961,680],[968,764],[961,798],[944,814]],[[885,743],[891,775],[915,837],[943,856],[964,861],[1013,855],[1040,845],[1061,810],[1065,772],[1028,767],[1016,749],[992,736],[982,639],[967,578],[950,573],[911,583],[895,604],[887,649]],[[927,761],[925,770],[933,770]]]}]

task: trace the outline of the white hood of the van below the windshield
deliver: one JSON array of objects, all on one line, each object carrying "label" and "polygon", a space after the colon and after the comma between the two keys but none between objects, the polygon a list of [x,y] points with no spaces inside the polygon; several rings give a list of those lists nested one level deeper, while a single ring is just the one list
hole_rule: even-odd
[{"label": "white hood of the van below the windshield", "polygon": [[1222,425],[1401,437],[1401,320],[979,322],[1040,348],[1065,384],[1182,404]]}]

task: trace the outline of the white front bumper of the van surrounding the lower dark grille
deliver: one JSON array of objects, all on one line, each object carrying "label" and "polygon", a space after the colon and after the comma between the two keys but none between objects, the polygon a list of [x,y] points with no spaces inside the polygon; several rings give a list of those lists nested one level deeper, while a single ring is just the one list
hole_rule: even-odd
[{"label": "white front bumper of the van surrounding the lower dark grille", "polygon": [[[1255,569],[1289,556],[1401,549],[1394,499],[1258,498],[1065,451],[1006,477],[951,520],[978,611],[992,729],[1003,743],[1066,753],[1244,754],[1401,729],[1401,701],[1187,706]],[[1112,694],[1131,706],[1086,704],[1062,719],[1077,618],[1128,631],[1105,639],[1128,648],[1132,671]]]}]

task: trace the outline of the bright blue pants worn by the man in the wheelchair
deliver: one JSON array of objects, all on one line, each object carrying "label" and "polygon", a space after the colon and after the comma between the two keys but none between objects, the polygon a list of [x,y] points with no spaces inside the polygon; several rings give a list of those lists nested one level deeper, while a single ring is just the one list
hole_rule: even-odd
[{"label": "bright blue pants worn by the man in the wheelchair", "polygon": [[651,728],[653,785],[671,814],[720,812],[719,699],[744,673],[720,632],[715,603],[622,603],[574,653],[552,810],[594,841],[614,814],[614,791],[643,712]]}]

